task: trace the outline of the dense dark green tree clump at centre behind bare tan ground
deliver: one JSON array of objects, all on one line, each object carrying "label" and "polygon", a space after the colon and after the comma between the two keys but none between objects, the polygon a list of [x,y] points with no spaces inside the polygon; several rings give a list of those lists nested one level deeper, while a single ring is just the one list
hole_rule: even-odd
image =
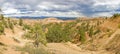
[{"label": "dense dark green tree clump at centre behind bare tan ground", "polygon": [[[66,28],[65,28],[66,27]],[[54,24],[48,28],[46,34],[48,42],[67,42],[70,41],[69,26],[62,27],[62,24]]]}]

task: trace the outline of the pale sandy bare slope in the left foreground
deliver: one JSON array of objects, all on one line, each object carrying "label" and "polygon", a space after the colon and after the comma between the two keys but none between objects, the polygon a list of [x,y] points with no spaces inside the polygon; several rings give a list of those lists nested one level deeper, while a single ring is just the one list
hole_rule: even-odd
[{"label": "pale sandy bare slope in the left foreground", "polygon": [[[15,46],[24,46],[27,42],[26,40],[22,39],[22,36],[24,34],[23,30],[20,30],[19,28],[15,28],[15,33],[11,33],[10,31],[6,31],[6,35],[2,36],[1,40],[2,42],[7,44],[7,50],[3,51],[3,54],[21,54],[20,51],[15,50]],[[18,40],[18,42],[15,41]]]}]

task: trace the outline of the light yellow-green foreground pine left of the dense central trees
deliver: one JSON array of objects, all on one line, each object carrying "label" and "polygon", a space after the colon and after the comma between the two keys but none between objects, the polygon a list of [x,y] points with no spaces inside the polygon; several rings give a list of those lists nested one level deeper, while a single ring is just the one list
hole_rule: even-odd
[{"label": "light yellow-green foreground pine left of the dense central trees", "polygon": [[32,28],[30,28],[30,31],[25,34],[25,38],[32,39],[35,42],[42,43],[46,45],[46,36],[43,32],[42,26],[40,24],[35,24]]}]

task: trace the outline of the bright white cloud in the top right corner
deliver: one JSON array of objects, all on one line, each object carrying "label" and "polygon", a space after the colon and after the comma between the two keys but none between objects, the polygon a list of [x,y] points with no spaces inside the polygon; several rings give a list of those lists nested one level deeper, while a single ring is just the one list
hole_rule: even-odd
[{"label": "bright white cloud in the top right corner", "polygon": [[114,11],[120,8],[120,0],[94,0],[94,2],[93,8],[98,11]]}]

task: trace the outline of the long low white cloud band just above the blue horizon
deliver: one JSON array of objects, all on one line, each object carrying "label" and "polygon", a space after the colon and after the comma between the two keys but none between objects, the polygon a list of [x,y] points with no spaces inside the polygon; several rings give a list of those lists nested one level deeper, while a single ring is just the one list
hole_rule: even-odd
[{"label": "long low white cloud band just above the blue horizon", "polygon": [[14,14],[14,15],[6,15],[6,16],[51,16],[51,17],[80,17],[84,16],[79,12],[47,12],[47,11],[34,11],[30,14]]}]

